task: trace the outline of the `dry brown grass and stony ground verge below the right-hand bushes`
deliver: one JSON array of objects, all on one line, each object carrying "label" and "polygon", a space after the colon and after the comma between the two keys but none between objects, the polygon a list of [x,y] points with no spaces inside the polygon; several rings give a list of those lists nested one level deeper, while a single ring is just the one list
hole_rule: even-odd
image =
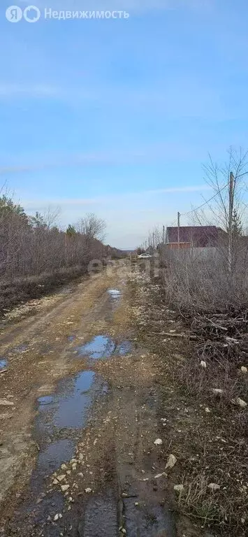
[{"label": "dry brown grass and stony ground verge below the right-hand bushes", "polygon": [[[196,324],[182,324],[171,310],[163,292],[163,282],[133,283],[139,308],[137,326],[140,341],[156,353],[160,363],[161,422],[163,459],[177,457],[171,478],[184,484],[178,500],[180,513],[188,515],[199,528],[214,535],[245,537],[248,521],[248,414],[236,404],[237,397],[248,402],[248,375],[240,366],[248,365],[246,329],[239,344],[226,345],[216,333],[199,337]],[[163,336],[170,332],[193,333],[189,339]],[[232,331],[233,329],[231,329]],[[233,336],[233,334],[231,334]],[[237,334],[235,334],[237,336]],[[164,341],[166,340],[166,341]],[[204,356],[203,356],[204,355]],[[206,368],[200,360],[206,361]],[[214,396],[213,388],[223,389]],[[206,412],[205,409],[210,412]],[[219,485],[215,492],[210,483]]]}]

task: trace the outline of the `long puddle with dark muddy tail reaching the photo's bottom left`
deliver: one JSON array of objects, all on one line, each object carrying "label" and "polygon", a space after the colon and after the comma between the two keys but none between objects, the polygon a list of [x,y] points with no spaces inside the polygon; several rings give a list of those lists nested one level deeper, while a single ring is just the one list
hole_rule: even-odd
[{"label": "long puddle with dark muddy tail reaching the photo's bottom left", "polygon": [[[17,512],[18,524],[19,521],[25,524],[29,515],[31,524],[42,522],[44,525],[48,516],[61,513],[64,497],[55,491],[44,495],[44,479],[73,457],[79,430],[86,426],[94,401],[107,391],[108,386],[100,375],[94,371],[82,371],[60,380],[54,393],[37,400],[34,438],[40,450],[36,468],[31,474],[29,499]],[[37,503],[39,497],[42,501]],[[48,534],[45,535],[57,537],[57,526],[53,528],[50,523],[48,526]]]}]

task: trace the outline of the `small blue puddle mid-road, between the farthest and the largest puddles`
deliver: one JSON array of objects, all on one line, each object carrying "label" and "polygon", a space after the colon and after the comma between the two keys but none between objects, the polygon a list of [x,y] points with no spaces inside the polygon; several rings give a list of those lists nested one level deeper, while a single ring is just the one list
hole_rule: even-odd
[{"label": "small blue puddle mid-road, between the farthest and the largest puddles", "polygon": [[115,343],[108,336],[95,336],[89,343],[77,348],[80,356],[89,357],[94,360],[110,358],[111,356],[124,356],[131,352],[131,342],[122,341]]}]

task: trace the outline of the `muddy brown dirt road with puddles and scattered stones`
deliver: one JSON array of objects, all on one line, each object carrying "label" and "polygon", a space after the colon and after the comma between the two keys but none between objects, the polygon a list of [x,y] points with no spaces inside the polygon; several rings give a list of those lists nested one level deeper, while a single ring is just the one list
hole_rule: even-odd
[{"label": "muddy brown dirt road with puddles and scattered stones", "polygon": [[174,537],[125,265],[1,324],[0,536]]}]

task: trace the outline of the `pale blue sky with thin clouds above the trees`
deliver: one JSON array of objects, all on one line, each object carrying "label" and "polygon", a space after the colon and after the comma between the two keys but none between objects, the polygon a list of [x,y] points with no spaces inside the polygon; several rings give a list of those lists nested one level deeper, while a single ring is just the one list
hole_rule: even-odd
[{"label": "pale blue sky with thin clouds above the trees", "polygon": [[[1,0],[0,184],[29,213],[60,206],[62,227],[94,212],[108,243],[135,247],[211,196],[208,152],[247,149],[247,2],[34,4],[38,22],[11,24]],[[130,16],[44,20],[45,7]]]}]

